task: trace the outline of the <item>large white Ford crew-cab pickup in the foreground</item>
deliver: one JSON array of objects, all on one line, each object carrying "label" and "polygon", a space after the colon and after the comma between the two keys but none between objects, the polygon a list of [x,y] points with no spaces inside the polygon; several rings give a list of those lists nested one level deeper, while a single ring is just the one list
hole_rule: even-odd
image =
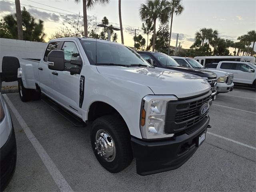
[{"label": "large white Ford crew-cab pickup in the foreground", "polygon": [[41,59],[21,61],[18,82],[22,101],[43,93],[92,122],[92,149],[112,173],[133,158],[141,175],[176,169],[210,127],[206,80],[155,68],[134,50],[106,40],[50,40]]}]

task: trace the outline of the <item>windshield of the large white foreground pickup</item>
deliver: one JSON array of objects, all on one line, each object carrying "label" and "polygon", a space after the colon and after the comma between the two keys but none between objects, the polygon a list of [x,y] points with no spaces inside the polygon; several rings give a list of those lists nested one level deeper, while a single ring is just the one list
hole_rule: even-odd
[{"label": "windshield of the large white foreground pickup", "polygon": [[90,64],[152,67],[134,50],[122,44],[97,40],[96,47],[96,40],[94,39],[82,40],[81,43],[90,61]]}]

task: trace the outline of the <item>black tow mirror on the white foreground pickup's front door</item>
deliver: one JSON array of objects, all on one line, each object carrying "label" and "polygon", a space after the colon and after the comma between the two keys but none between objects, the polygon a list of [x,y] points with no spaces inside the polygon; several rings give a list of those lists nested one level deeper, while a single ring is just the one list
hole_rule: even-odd
[{"label": "black tow mirror on the white foreground pickup's front door", "polygon": [[64,71],[64,51],[52,50],[48,54],[48,68],[56,71]]}]

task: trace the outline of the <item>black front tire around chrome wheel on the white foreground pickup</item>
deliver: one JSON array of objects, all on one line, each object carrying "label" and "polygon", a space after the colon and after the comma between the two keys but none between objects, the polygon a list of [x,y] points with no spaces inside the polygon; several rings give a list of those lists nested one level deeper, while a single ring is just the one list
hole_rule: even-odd
[{"label": "black front tire around chrome wheel on the white foreground pickup", "polygon": [[[106,160],[104,156],[98,154],[96,149],[96,136],[98,132],[104,130],[110,135],[108,141],[114,142],[115,155],[110,156],[112,160]],[[92,150],[100,164],[111,173],[118,173],[124,168],[130,165],[132,162],[132,148],[130,144],[130,133],[128,128],[122,120],[122,118],[117,118],[113,115],[107,115],[97,118],[93,124],[90,133]]]}]

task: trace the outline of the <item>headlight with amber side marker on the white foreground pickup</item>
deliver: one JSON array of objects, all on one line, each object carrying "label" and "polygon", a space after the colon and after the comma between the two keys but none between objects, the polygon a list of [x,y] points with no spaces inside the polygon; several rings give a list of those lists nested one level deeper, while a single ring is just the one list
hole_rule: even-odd
[{"label": "headlight with amber side marker on the white foreground pickup", "polygon": [[166,107],[169,101],[178,100],[175,96],[147,95],[142,99],[140,132],[142,138],[156,139],[172,137],[164,132]]}]

